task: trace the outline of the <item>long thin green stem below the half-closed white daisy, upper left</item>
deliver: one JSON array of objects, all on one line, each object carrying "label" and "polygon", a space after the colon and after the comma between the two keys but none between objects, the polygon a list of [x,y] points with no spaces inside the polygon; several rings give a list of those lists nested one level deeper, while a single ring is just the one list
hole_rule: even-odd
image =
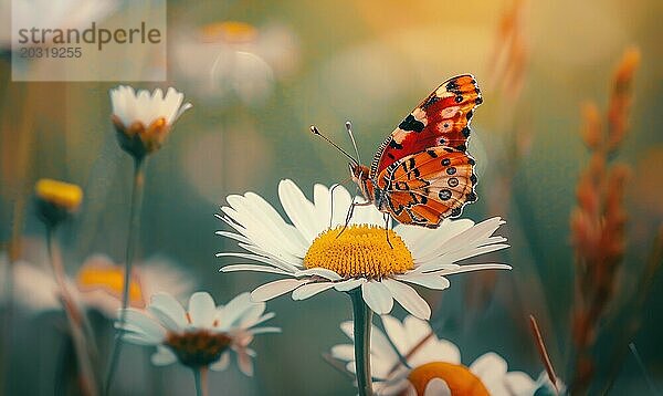
[{"label": "long thin green stem below the half-closed white daisy, upper left", "polygon": [[118,320],[117,334],[113,344],[110,363],[106,373],[106,386],[104,395],[108,395],[113,377],[117,371],[117,363],[122,352],[122,333],[126,321],[126,309],[129,306],[129,288],[131,283],[131,268],[134,262],[134,252],[136,250],[136,241],[140,230],[140,209],[143,207],[143,191],[145,185],[145,157],[134,157],[134,186],[131,189],[131,204],[129,206],[129,231],[127,236],[127,250],[125,257],[125,273],[124,284],[122,290],[122,311]]}]

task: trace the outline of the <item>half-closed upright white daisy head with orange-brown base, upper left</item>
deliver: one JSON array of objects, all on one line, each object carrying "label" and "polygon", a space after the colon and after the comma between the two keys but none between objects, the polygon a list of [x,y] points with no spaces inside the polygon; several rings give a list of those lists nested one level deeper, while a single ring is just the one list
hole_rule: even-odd
[{"label": "half-closed upright white daisy head with orange-brown base, upper left", "polygon": [[150,95],[128,85],[110,90],[113,124],[122,148],[139,157],[159,149],[175,122],[192,107],[183,101],[185,94],[173,87],[166,95],[160,88]]}]

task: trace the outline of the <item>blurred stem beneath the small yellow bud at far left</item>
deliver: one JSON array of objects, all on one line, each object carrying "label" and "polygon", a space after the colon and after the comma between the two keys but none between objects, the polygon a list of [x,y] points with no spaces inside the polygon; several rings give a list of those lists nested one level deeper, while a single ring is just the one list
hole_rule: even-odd
[{"label": "blurred stem beneath the small yellow bud at far left", "polygon": [[70,324],[71,336],[74,344],[74,352],[78,362],[78,369],[81,372],[81,386],[84,395],[97,395],[98,389],[90,359],[90,353],[87,350],[87,343],[85,341],[85,334],[83,331],[83,313],[78,310],[71,292],[66,285],[66,278],[64,274],[64,267],[62,265],[62,257],[60,251],[55,247],[53,235],[55,232],[54,226],[46,226],[46,247],[49,250],[49,260],[55,277],[55,282],[60,289],[60,298],[62,306],[66,313],[66,319]]}]

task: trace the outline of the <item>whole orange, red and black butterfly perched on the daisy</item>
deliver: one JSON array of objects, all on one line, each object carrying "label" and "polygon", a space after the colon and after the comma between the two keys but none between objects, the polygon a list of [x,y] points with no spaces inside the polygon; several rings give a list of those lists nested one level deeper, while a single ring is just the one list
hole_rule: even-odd
[{"label": "whole orange, red and black butterfly perched on the daisy", "polygon": [[459,217],[477,199],[474,158],[467,154],[470,122],[483,98],[471,74],[443,82],[385,139],[370,167],[360,164],[350,124],[346,127],[357,159],[323,136],[351,163],[350,177],[365,202],[404,225],[438,228],[445,218]]}]

